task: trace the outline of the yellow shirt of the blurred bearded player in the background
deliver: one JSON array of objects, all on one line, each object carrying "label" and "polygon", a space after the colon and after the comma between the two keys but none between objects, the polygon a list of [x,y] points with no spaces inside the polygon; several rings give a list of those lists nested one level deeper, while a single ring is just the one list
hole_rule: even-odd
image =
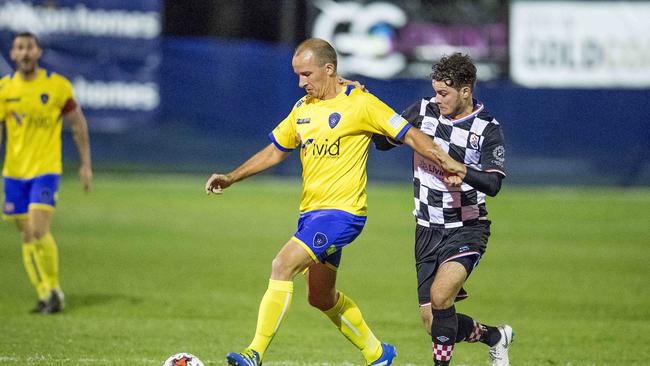
[{"label": "yellow shirt of the blurred bearded player in the background", "polygon": [[2,175],[29,179],[61,174],[63,114],[76,106],[70,82],[39,69],[34,80],[24,81],[14,73],[0,85],[0,117],[7,130]]}]

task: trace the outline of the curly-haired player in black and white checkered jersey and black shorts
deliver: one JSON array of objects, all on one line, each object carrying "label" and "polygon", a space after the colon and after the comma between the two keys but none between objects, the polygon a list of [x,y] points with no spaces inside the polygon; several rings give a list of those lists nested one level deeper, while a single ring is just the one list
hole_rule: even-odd
[{"label": "curly-haired player in black and white checkered jersey and black shorts", "polygon": [[[420,313],[431,335],[434,365],[448,365],[454,344],[467,341],[488,345],[492,364],[504,366],[509,364],[512,328],[479,323],[454,306],[467,297],[463,284],[490,236],[485,196],[495,196],[506,176],[503,134],[483,103],[473,98],[476,67],[469,56],[442,57],[432,69],[435,97],[402,113],[446,151],[438,163],[413,154]],[[381,135],[373,141],[379,150],[401,144]]]}]

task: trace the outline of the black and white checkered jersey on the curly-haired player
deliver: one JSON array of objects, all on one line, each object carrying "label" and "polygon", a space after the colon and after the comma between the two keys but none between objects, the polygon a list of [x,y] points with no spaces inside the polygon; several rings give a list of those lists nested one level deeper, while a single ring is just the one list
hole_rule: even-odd
[{"label": "black and white checkered jersey on the curly-haired player", "polygon": [[[474,112],[458,120],[440,114],[435,97],[422,99],[407,108],[402,117],[470,168],[506,175],[503,132],[499,123],[474,101]],[[485,193],[467,183],[449,187],[443,170],[431,160],[413,153],[414,216],[418,225],[460,227],[487,220]]]}]

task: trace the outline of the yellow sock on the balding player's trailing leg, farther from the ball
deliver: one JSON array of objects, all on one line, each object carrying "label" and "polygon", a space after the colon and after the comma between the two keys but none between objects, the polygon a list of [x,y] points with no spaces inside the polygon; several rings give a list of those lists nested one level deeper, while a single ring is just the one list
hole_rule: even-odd
[{"label": "yellow sock on the balding player's trailing leg, farther from the ball", "polygon": [[381,342],[368,327],[357,304],[339,291],[339,299],[333,308],[324,311],[325,315],[336,325],[343,335],[357,348],[367,363],[381,357]]}]

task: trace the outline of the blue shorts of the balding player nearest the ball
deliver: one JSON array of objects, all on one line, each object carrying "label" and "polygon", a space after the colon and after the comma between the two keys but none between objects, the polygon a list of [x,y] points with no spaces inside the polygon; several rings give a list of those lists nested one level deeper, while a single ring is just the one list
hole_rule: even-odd
[{"label": "blue shorts of the balding player nearest the ball", "polygon": [[293,239],[318,262],[338,268],[341,250],[356,239],[366,224],[365,216],[341,210],[314,210],[300,214]]}]

